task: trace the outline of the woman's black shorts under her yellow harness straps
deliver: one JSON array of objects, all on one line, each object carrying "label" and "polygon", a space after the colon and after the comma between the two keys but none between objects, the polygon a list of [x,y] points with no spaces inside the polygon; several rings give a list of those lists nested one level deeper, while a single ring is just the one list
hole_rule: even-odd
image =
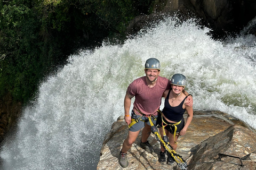
[{"label": "woman's black shorts under her yellow harness straps", "polygon": [[[174,128],[174,126],[171,125],[172,123],[167,122],[164,117],[163,117],[163,121],[164,121],[165,123],[170,124],[170,125],[165,126],[166,124],[163,123],[163,125],[165,126],[164,129],[166,129],[167,131],[169,131],[171,134],[174,134],[175,128]],[[156,121],[156,122],[157,122],[157,128],[161,128],[161,127],[162,127],[162,115],[161,115],[161,114],[158,114],[158,117],[157,117],[157,121]],[[176,126],[177,126],[176,134],[178,134],[178,133],[184,128],[184,126],[185,126],[184,117],[182,117],[180,124],[178,124],[178,125],[176,125]]]}]

